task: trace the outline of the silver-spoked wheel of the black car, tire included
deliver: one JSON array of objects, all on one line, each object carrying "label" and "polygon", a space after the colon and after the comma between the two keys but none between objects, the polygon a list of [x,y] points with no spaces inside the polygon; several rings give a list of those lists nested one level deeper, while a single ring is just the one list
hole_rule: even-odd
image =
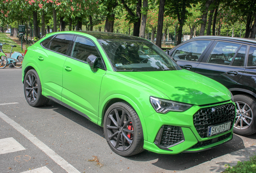
[{"label": "silver-spoked wheel of the black car, tire included", "polygon": [[256,99],[248,95],[234,95],[234,102],[236,105],[234,133],[244,136],[256,133]]}]

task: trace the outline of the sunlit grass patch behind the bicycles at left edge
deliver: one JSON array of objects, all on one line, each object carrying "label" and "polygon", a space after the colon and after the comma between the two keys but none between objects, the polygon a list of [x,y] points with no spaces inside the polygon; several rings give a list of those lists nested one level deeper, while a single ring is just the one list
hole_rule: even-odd
[{"label": "sunlit grass patch behind the bicycles at left edge", "polygon": [[[4,53],[10,53],[10,50],[12,49],[12,52],[17,51],[17,52],[21,52],[24,53],[25,50],[23,49],[21,51],[21,46],[18,45],[16,42],[12,41],[12,39],[10,39],[7,34],[4,33],[0,33],[0,42],[1,43],[7,43],[9,45],[4,45],[2,47],[2,50],[4,51]],[[16,45],[17,47],[12,48],[10,45]]]}]

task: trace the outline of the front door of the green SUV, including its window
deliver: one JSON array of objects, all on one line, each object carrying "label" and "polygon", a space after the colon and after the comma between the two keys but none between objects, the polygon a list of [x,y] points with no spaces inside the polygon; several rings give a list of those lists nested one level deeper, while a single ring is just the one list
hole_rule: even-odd
[{"label": "front door of the green SUV, including its window", "polygon": [[[100,59],[96,72],[91,70],[86,61],[91,54]],[[106,71],[93,41],[76,36],[71,56],[66,59],[63,68],[62,102],[97,123],[101,80]]]}]

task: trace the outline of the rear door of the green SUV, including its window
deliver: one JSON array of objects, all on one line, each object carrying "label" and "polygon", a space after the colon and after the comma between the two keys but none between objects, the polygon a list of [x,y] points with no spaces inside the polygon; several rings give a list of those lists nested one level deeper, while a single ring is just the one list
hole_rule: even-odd
[{"label": "rear door of the green SUV, including its window", "polygon": [[48,43],[46,39],[41,43],[43,48],[36,53],[43,95],[47,97],[61,100],[63,66],[73,37],[70,34],[58,34],[51,41],[49,38]]}]

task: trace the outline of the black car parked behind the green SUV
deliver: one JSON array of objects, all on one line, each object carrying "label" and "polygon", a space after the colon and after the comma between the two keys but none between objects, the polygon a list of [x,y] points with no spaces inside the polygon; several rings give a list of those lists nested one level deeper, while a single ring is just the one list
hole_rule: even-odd
[{"label": "black car parked behind the green SUV", "polygon": [[256,133],[256,39],[197,36],[167,54],[184,69],[225,85],[234,96],[234,132]]}]

